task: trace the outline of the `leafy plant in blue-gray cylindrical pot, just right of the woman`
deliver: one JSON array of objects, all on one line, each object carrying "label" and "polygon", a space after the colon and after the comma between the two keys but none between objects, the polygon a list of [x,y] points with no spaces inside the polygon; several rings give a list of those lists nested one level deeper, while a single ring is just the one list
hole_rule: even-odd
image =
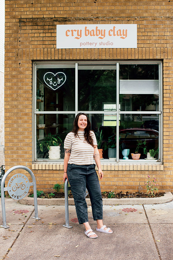
[{"label": "leafy plant in blue-gray cylindrical pot, just right of the woman", "polygon": [[108,142],[104,143],[104,150],[107,148],[109,159],[116,160],[116,135],[108,137]]}]

